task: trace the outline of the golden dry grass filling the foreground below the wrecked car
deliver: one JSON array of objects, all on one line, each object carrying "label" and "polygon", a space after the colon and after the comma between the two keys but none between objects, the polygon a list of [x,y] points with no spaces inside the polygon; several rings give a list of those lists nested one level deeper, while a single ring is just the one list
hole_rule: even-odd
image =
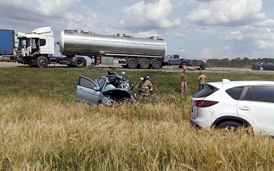
[{"label": "golden dry grass filling the foreground below the wrecked car", "polygon": [[1,170],[248,171],[274,165],[272,138],[196,130],[188,110],[172,104],[105,107],[12,96],[0,104]]}]

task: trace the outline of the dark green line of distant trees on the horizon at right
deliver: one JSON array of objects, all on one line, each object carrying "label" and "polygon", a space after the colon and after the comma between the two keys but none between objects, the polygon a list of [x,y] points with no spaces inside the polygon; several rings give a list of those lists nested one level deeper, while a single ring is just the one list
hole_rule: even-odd
[{"label": "dark green line of distant trees on the horizon at right", "polygon": [[[266,61],[266,62],[273,62],[274,58],[258,58],[258,59],[249,59],[247,57],[235,58],[229,60],[228,58],[225,59],[208,59],[206,60],[207,67],[236,67],[236,68],[250,68],[252,64],[256,64],[258,62]],[[201,64],[201,60],[192,60],[193,66],[199,66]]]}]

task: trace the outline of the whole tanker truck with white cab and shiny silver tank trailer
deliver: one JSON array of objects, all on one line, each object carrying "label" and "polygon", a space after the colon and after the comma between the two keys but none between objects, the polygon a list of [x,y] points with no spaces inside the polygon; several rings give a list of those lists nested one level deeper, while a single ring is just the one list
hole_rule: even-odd
[{"label": "whole tanker truck with white cab and shiny silver tank trailer", "polygon": [[[0,61],[14,62],[16,57],[17,62],[30,66],[66,64],[85,67],[84,56],[87,56],[95,64],[111,65],[115,60],[124,68],[159,69],[163,65],[166,51],[166,43],[159,37],[101,35],[83,30],[64,30],[60,34],[59,41],[54,43],[54,35],[50,27],[37,28],[31,33],[18,33],[17,39],[17,47],[13,47],[16,49],[16,55],[6,56],[0,52]],[[53,56],[56,44],[59,44],[60,52],[65,57]]]}]

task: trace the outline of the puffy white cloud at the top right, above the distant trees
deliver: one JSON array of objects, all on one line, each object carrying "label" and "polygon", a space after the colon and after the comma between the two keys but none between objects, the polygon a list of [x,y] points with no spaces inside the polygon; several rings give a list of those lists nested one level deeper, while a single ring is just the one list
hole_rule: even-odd
[{"label": "puffy white cloud at the top right, above the distant trees", "polygon": [[266,20],[262,0],[192,0],[197,5],[186,17],[199,25],[236,26]]}]

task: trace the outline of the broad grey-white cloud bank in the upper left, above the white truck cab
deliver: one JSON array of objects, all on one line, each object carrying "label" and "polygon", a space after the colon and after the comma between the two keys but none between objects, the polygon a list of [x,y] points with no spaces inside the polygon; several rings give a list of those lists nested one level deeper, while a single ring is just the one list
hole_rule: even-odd
[{"label": "broad grey-white cloud bank in the upper left, above the white truck cab", "polygon": [[0,26],[9,23],[20,32],[51,26],[58,34],[63,29],[92,30],[105,25],[81,0],[1,0],[0,20],[7,21]]}]

